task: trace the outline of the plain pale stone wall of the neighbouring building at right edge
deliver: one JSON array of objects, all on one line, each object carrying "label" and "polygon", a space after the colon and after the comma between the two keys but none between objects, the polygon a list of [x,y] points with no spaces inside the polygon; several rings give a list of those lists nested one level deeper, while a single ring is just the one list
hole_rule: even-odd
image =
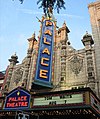
[{"label": "plain pale stone wall of the neighbouring building at right edge", "polygon": [[100,96],[100,1],[89,4],[88,8],[95,43],[96,81]]}]

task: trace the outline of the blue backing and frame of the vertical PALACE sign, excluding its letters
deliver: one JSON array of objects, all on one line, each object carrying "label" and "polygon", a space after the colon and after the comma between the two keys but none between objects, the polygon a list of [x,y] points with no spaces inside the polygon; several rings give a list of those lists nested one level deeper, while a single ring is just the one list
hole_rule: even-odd
[{"label": "blue backing and frame of the vertical PALACE sign, excluding its letters", "polygon": [[[46,22],[49,22],[52,25],[48,24],[46,26]],[[46,33],[46,31],[47,31],[47,33]],[[45,43],[43,41],[44,37],[46,37]],[[40,43],[39,43],[36,74],[35,74],[33,84],[52,88],[51,80],[52,80],[53,45],[54,45],[54,23],[51,20],[44,20],[42,23],[42,34],[41,34]],[[47,53],[50,52],[50,55],[47,56],[47,54],[41,53],[45,48],[48,48]],[[48,63],[48,66],[43,66],[40,64],[40,62],[41,62],[40,60],[41,60],[42,56],[49,59],[48,62],[47,62],[47,60],[44,60],[44,64]],[[43,72],[43,74],[45,74],[45,76],[47,75],[47,78],[39,77],[41,69],[48,71],[48,73]]]}]

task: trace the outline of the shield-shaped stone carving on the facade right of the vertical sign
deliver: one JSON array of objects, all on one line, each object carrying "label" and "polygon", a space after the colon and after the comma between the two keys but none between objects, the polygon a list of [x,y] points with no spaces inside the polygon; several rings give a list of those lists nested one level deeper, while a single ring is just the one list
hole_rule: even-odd
[{"label": "shield-shaped stone carving on the facade right of the vertical sign", "polygon": [[74,56],[70,60],[70,68],[72,72],[78,75],[83,67],[83,59],[79,58],[78,56]]}]

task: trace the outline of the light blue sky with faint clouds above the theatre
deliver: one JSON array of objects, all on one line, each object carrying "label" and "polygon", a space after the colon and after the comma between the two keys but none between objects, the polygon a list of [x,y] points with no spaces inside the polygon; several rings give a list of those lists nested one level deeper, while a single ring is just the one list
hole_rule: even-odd
[{"label": "light blue sky with faint clouds above the theatre", "polygon": [[[81,39],[88,31],[92,34],[88,4],[96,0],[64,0],[66,10],[61,9],[54,16],[57,26],[62,27],[64,21],[70,30],[69,41],[71,45],[79,50],[84,48]],[[0,0],[0,71],[6,70],[9,65],[8,59],[15,54],[19,63],[27,55],[27,39],[35,32],[36,38],[40,30],[43,10],[38,8],[37,0]]]}]

